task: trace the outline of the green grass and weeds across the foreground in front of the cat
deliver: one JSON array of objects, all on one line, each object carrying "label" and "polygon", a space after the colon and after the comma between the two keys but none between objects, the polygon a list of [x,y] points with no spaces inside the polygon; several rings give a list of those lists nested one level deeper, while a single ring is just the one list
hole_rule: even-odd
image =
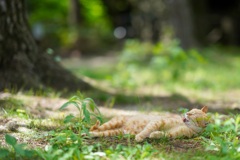
[{"label": "green grass and weeds across the foreground in front of the cat", "polygon": [[[9,101],[15,101],[10,99]],[[24,105],[24,102],[22,102]],[[5,134],[5,147],[0,147],[1,159],[239,159],[240,158],[240,115],[227,118],[211,114],[214,122],[202,136],[193,139],[147,139],[136,143],[134,137],[116,136],[108,138],[90,138],[80,136],[87,133],[92,124],[93,110],[97,109],[91,99],[74,96],[61,109],[79,108],[79,116],[68,115],[62,120],[37,120],[33,116],[25,117],[31,121],[33,135]],[[82,107],[84,105],[85,107]],[[22,106],[21,106],[22,107]],[[80,109],[80,107],[82,109]],[[17,108],[16,108],[17,109]],[[95,117],[98,117],[96,115]],[[41,123],[40,123],[41,122]],[[55,123],[58,127],[46,127]],[[53,125],[54,126],[54,125]],[[60,127],[59,127],[60,126]],[[38,134],[37,134],[38,133]],[[31,142],[44,143],[41,148],[36,143],[31,147],[18,142],[32,137]]]}]

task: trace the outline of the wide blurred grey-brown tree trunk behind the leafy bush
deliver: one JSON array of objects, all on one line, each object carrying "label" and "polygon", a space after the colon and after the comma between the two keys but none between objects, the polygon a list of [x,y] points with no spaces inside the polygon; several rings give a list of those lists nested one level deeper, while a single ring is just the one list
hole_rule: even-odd
[{"label": "wide blurred grey-brown tree trunk behind the leafy bush", "polygon": [[127,30],[127,38],[158,42],[168,30],[181,41],[184,48],[195,45],[192,14],[187,0],[123,0],[119,2],[103,0],[103,2],[114,27],[124,27]]}]

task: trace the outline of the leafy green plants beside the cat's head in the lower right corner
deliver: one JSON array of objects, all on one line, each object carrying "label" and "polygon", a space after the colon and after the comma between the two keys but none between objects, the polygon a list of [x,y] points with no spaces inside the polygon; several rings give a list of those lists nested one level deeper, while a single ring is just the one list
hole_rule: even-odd
[{"label": "leafy green plants beside the cat's head in the lower right corner", "polygon": [[221,121],[216,115],[213,124],[206,128],[204,138],[206,150],[215,151],[217,156],[226,159],[240,159],[240,115]]}]

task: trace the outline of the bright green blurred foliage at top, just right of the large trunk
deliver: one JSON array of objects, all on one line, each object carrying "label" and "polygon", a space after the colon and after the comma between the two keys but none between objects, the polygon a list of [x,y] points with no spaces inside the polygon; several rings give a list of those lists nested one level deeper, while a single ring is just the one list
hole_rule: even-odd
[{"label": "bright green blurred foliage at top, just right of the large trunk", "polygon": [[[102,40],[111,40],[112,25],[102,1],[74,3],[74,0],[27,1],[32,32],[42,49],[50,47],[64,55],[64,49],[85,51],[86,46],[91,51],[91,44],[100,48],[104,46]],[[76,6],[71,5],[79,5],[79,9],[75,11]],[[73,19],[74,16],[77,18]]]}]

